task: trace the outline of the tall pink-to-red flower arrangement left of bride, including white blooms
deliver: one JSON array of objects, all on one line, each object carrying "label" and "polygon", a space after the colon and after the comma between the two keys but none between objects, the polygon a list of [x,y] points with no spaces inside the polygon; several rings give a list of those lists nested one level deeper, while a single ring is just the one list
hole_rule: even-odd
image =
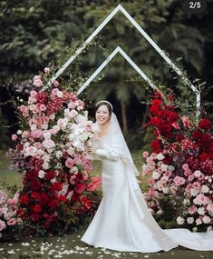
[{"label": "tall pink-to-red flower arrangement left of bride, including white blooms", "polygon": [[46,231],[55,224],[64,228],[66,218],[77,224],[81,215],[92,214],[99,202],[94,191],[101,184],[100,177],[90,176],[86,149],[97,125],[88,120],[84,103],[60,89],[58,81],[44,87],[49,74],[46,67],[44,75],[34,76],[26,104],[19,105],[21,126],[10,150],[14,166],[24,174],[19,214],[31,229]]}]

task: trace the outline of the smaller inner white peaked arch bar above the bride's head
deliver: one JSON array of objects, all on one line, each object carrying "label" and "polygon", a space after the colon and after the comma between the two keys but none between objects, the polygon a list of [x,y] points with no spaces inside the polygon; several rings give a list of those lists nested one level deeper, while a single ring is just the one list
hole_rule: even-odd
[{"label": "smaller inner white peaked arch bar above the bride's head", "polygon": [[[129,55],[126,55],[126,53],[121,49],[120,46],[117,46],[113,52],[111,53],[111,55],[108,56],[107,59],[105,59],[102,63],[102,65],[100,65],[96,70],[95,72],[87,79],[87,81],[79,88],[78,92],[77,92],[77,95],[80,95],[82,93],[82,91],[88,86],[91,84],[92,80],[97,76],[99,75],[99,73],[102,71],[102,69],[108,65],[108,63],[111,61],[111,59],[117,55],[118,53],[120,53],[129,63],[130,65],[139,73],[139,75],[141,75],[143,77],[143,79],[145,81],[147,81],[149,83],[149,85],[153,88],[153,89],[156,89],[156,90],[159,90],[158,87],[156,85],[154,85],[151,81],[150,81],[150,78],[145,75],[140,67],[138,65],[136,65],[130,58]],[[159,90],[160,91],[160,90]]]}]

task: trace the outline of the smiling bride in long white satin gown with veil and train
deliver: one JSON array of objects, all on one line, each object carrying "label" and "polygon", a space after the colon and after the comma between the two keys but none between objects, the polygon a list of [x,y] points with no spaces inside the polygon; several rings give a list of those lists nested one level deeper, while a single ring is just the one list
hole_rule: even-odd
[{"label": "smiling bride in long white satin gown with veil and train", "polygon": [[162,230],[147,207],[131,153],[121,133],[112,105],[96,105],[100,127],[88,151],[102,160],[102,202],[82,242],[125,252],[151,253],[182,245],[195,250],[213,250],[213,232],[191,233],[188,229]]}]

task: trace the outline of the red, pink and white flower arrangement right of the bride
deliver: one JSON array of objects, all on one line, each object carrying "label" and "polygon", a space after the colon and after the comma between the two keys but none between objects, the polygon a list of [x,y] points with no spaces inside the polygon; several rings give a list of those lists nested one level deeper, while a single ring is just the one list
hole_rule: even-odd
[{"label": "red, pink and white flower arrangement right of the bride", "polygon": [[[142,174],[150,175],[146,199],[157,214],[190,230],[213,226],[213,138],[211,122],[192,123],[177,113],[174,98],[155,92],[150,104],[152,153],[143,153]],[[170,212],[170,214],[169,214]]]}]

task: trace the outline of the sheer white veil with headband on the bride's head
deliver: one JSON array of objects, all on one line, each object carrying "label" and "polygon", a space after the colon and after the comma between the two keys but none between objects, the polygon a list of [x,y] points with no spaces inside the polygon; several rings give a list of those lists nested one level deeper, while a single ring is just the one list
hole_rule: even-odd
[{"label": "sheer white veil with headband on the bride's head", "polygon": [[[99,103],[103,103],[103,104],[108,103],[109,105],[111,105],[108,101],[101,101]],[[112,105],[111,105],[111,110],[112,110]],[[120,148],[121,159],[128,166],[128,169],[131,170],[133,174],[139,175],[139,172],[132,160],[131,152],[121,132],[121,127],[119,125],[117,116],[113,112],[111,112],[110,123],[106,134],[104,134],[104,137],[107,137],[109,139],[109,141],[111,142],[111,147],[113,147],[113,140],[116,138],[116,143],[119,142],[119,146],[121,147]]]}]

